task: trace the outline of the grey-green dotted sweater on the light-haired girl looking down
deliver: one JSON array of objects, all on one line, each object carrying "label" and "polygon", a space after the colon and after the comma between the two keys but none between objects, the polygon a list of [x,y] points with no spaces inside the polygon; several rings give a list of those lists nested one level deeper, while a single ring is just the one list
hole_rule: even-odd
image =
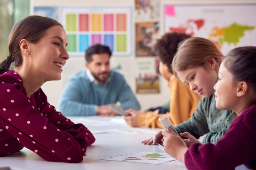
[{"label": "grey-green dotted sweater on the light-haired girl looking down", "polygon": [[203,97],[192,116],[175,129],[178,133],[187,131],[197,139],[206,134],[203,142],[215,144],[227,132],[234,118],[235,112],[216,108],[215,95],[212,94],[207,98]]}]

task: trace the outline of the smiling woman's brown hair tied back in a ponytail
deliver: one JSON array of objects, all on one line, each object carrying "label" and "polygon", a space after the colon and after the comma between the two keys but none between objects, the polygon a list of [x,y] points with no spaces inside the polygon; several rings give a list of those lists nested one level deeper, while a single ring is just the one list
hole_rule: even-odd
[{"label": "smiling woman's brown hair tied back in a ponytail", "polygon": [[51,28],[52,26],[61,26],[61,24],[52,18],[38,15],[25,17],[18,21],[12,28],[11,34],[9,36],[9,57],[0,63],[0,74],[8,71],[12,62],[15,62],[15,66],[21,65],[21,40],[26,39],[29,42],[36,43],[41,39],[41,37],[44,36],[47,29]]}]

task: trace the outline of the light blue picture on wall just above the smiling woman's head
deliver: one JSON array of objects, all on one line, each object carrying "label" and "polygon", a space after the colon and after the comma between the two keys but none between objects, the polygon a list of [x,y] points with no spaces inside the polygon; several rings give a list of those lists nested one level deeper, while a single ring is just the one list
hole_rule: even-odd
[{"label": "light blue picture on wall just above the smiling woman's head", "polygon": [[49,6],[35,6],[34,15],[40,15],[43,17],[49,17],[54,20],[59,19],[58,17],[58,7],[49,7]]}]

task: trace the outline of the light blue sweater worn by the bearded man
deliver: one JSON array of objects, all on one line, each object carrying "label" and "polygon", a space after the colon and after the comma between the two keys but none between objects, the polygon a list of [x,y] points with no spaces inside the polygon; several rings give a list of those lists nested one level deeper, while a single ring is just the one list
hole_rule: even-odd
[{"label": "light blue sweater worn by the bearded man", "polygon": [[116,102],[124,109],[140,110],[139,102],[121,74],[111,71],[110,79],[99,85],[90,81],[86,71],[81,71],[67,82],[58,108],[65,116],[95,116],[98,105]]}]

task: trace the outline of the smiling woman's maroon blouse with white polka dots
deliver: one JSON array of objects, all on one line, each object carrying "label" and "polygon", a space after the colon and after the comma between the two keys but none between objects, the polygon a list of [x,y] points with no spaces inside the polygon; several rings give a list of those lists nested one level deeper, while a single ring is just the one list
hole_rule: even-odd
[{"label": "smiling woman's maroon blouse with white polka dots", "polygon": [[[73,122],[69,121],[70,119],[63,119],[64,117],[62,116],[62,114],[60,112],[57,112],[56,108],[47,102],[47,97],[45,96],[41,88],[36,91],[35,94],[32,94],[31,96],[26,96],[26,94],[24,94],[25,88],[23,87],[23,80],[19,77],[19,75],[14,71],[7,71],[7,75],[5,75],[4,77],[8,77],[9,75],[12,76],[12,79],[10,80],[7,80],[6,78],[2,79],[3,77],[0,76],[0,96],[2,94],[6,94],[6,101],[0,106],[0,113],[4,115],[4,121],[8,123],[0,127],[0,138],[2,138],[2,136],[5,137],[5,135],[10,132],[14,135],[15,140],[6,140],[2,143],[0,142],[0,148],[9,150],[6,151],[5,155],[3,156],[6,156],[7,153],[8,155],[10,155],[17,152],[18,150],[23,148],[23,144],[32,148],[32,151],[34,153],[38,153],[43,159],[47,159],[47,156],[49,156],[49,154],[54,155],[55,153],[58,153],[58,155],[64,155],[64,152],[67,152],[67,150],[70,149],[69,147],[67,147],[70,144],[72,144],[72,146],[74,145],[73,149],[80,148],[80,152],[81,150],[86,150],[86,147],[81,148],[80,146],[84,146],[84,136],[77,136],[77,138],[75,139],[73,138],[73,135],[75,133],[69,134],[69,136],[66,136],[64,133],[62,133],[61,129],[64,129],[63,131],[68,130],[74,124]],[[13,78],[16,78],[16,82],[12,82],[12,80],[14,80]],[[16,85],[14,85],[14,83]],[[15,92],[17,92],[17,94],[14,94]],[[25,108],[20,108],[16,110],[13,109],[19,105],[22,105]],[[26,108],[27,106],[28,108]],[[30,115],[32,112],[35,113],[33,116]],[[41,116],[47,117],[41,117],[40,114]],[[55,122],[55,126],[53,126],[50,122]],[[15,128],[16,124],[20,125],[20,127],[26,127],[26,130]],[[84,126],[77,125],[74,126],[72,129],[77,130],[81,128],[84,129]],[[38,133],[33,131],[37,129]],[[49,133],[52,134],[52,136],[49,136]],[[29,139],[27,139],[27,137],[29,137]],[[72,141],[70,140],[71,138]],[[91,139],[93,139],[93,137]],[[48,148],[38,147],[40,143],[43,142],[43,140],[49,142],[49,145],[47,145]],[[22,143],[22,145],[19,144],[19,142]],[[17,147],[15,147],[15,144],[17,145]],[[64,147],[65,149],[60,147]],[[48,151],[47,154],[45,154],[45,150]],[[77,150],[77,152],[79,152],[79,150]],[[64,157],[63,161],[76,162],[79,160],[81,160],[81,156],[73,157],[72,155],[67,155],[66,157]]]}]

